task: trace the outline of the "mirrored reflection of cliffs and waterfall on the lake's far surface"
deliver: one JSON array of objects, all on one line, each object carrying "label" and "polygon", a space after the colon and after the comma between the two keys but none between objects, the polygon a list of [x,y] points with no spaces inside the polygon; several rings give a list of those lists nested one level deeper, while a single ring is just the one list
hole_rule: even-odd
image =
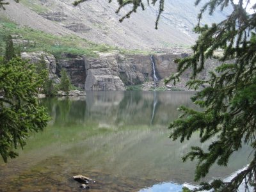
[{"label": "mirrored reflection of cliffs and waterfall on the lake's far surface", "polygon": [[[188,92],[87,92],[84,99],[42,99],[53,124],[77,124],[90,120],[99,126],[168,126],[180,105],[190,106]],[[68,118],[67,118],[68,117]]]}]

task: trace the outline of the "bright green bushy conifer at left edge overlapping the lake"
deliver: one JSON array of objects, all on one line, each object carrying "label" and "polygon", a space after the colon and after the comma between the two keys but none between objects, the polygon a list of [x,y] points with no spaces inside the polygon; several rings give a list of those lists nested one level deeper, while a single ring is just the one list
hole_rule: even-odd
[{"label": "bright green bushy conifer at left edge overlapping the lake", "polygon": [[0,154],[6,162],[24,147],[31,131],[42,131],[49,116],[38,106],[35,67],[20,58],[0,58]]}]

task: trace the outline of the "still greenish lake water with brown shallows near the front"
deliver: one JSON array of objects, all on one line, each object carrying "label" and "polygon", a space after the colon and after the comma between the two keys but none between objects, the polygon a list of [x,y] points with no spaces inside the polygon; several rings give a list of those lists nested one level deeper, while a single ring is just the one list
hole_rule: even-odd
[{"label": "still greenish lake water with brown shallows near the front", "polygon": [[[0,191],[83,191],[73,175],[96,180],[89,191],[180,191],[193,182],[195,163],[181,157],[198,142],[171,141],[167,129],[180,105],[195,107],[191,92],[87,92],[86,97],[47,98],[52,116],[32,134],[20,156],[0,161]],[[205,180],[226,178],[248,164],[249,147],[228,167],[214,165]]]}]

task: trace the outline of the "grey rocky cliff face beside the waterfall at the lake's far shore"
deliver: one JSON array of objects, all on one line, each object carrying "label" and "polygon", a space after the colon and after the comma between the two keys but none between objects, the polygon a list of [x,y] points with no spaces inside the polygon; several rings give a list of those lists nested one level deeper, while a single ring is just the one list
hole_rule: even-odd
[{"label": "grey rocky cliff face beside the waterfall at the lake's far shore", "polygon": [[[125,86],[152,82],[152,61],[149,55],[142,54],[101,54],[99,58],[86,58],[73,54],[65,54],[59,60],[55,60],[51,54],[44,52],[22,53],[31,63],[38,63],[43,55],[52,78],[60,76],[61,68],[65,68],[70,76],[72,84],[84,90],[125,90]],[[188,54],[156,54],[156,74],[159,81],[176,72],[174,63],[177,58],[184,58]],[[216,61],[207,62],[200,78],[207,78],[207,73]],[[185,72],[177,85],[186,89],[186,81],[189,80],[189,70]],[[58,83],[58,81],[57,81]],[[172,86],[172,85],[170,85]]]}]

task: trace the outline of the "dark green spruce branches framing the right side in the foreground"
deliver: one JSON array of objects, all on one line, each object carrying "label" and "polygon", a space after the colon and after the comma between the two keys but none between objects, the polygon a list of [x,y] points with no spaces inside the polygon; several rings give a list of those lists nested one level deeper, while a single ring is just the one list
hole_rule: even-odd
[{"label": "dark green spruce branches framing the right side in the foreground", "polygon": [[[86,0],[76,1],[79,4]],[[111,0],[110,0],[111,1]],[[109,1],[109,2],[110,2]],[[156,19],[156,28],[164,0],[151,1],[159,3],[159,15]],[[196,0],[198,5],[201,1]],[[117,12],[127,4],[132,9],[124,17],[129,17],[138,8],[145,8],[142,0],[118,1],[120,7]],[[149,1],[147,1],[149,4]],[[193,45],[193,54],[188,58],[177,60],[177,73],[166,79],[166,83],[179,81],[179,77],[191,68],[191,81],[187,86],[198,90],[202,85],[207,86],[192,97],[193,102],[202,108],[201,111],[180,106],[182,115],[170,124],[172,140],[189,140],[191,134],[200,132],[200,141],[205,143],[210,139],[214,141],[204,151],[200,147],[192,147],[191,152],[183,157],[197,159],[195,180],[200,180],[209,172],[212,164],[227,166],[233,152],[243,145],[252,147],[252,160],[248,166],[238,173],[230,182],[214,180],[211,183],[202,183],[202,189],[215,191],[236,191],[244,182],[256,190],[256,13],[248,14],[246,7],[250,0],[208,0],[198,15],[198,26],[195,32],[199,34],[196,44]],[[200,26],[200,19],[205,11],[211,15],[217,8],[223,10],[232,6],[233,12],[226,20],[211,26]],[[253,9],[256,10],[256,4]],[[221,56],[214,52],[222,50]],[[217,58],[221,65],[216,67],[209,75],[209,79],[198,79],[198,74],[204,69],[206,59]],[[244,158],[247,161],[248,157]]]}]

